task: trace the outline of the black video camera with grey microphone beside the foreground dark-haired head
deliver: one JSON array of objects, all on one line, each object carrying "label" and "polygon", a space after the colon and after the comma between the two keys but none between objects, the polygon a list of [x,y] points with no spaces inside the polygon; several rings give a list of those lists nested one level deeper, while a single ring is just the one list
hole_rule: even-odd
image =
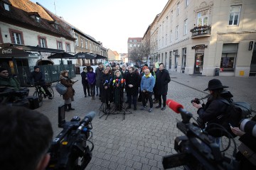
[{"label": "black video camera with grey microphone beside the foreground dark-haired head", "polygon": [[[53,139],[50,146],[50,162],[47,169],[83,170],[92,159],[92,119],[95,112],[85,115],[82,120],[74,116],[65,121],[65,105],[58,107],[58,127],[63,130]],[[90,143],[91,148],[88,143]]]}]

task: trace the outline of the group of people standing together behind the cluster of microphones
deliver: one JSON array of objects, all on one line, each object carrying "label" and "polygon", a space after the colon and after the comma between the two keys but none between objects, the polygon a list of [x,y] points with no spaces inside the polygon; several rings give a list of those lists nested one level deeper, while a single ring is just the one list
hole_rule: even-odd
[{"label": "group of people standing together behind the cluster of microphones", "polygon": [[[142,72],[136,67],[122,65],[106,66],[100,63],[93,72],[92,67],[84,67],[81,73],[82,86],[85,97],[91,96],[95,100],[96,96],[100,97],[102,103],[106,103],[110,108],[110,103],[114,102],[117,110],[122,110],[124,98],[127,96],[128,106],[126,109],[134,106],[137,110],[138,97],[142,98],[142,110],[146,109],[149,101],[149,112],[153,111],[153,103],[159,103],[156,108],[166,109],[166,95],[168,84],[171,81],[169,72],[164,69],[164,64],[160,63],[159,68],[153,66],[149,68],[146,64]],[[124,94],[126,91],[126,95]],[[154,101],[152,96],[154,95]]]}]

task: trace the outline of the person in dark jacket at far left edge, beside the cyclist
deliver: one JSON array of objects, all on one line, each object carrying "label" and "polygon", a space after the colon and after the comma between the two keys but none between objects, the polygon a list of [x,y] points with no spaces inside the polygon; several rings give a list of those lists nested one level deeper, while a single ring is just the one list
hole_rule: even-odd
[{"label": "person in dark jacket at far left edge, beside the cyclist", "polygon": [[20,84],[14,77],[9,76],[7,69],[0,67],[0,86],[7,86],[14,88],[14,90],[21,89]]}]

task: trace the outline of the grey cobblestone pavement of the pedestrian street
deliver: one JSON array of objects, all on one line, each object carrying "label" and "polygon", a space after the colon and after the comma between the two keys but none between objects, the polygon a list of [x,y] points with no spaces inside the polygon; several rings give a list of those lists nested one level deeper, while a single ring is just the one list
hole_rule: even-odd
[{"label": "grey cobblestone pavement of the pedestrian street", "polygon": [[[208,81],[213,78],[218,78],[223,85],[230,86],[229,90],[234,95],[235,101],[251,103],[252,109],[256,110],[256,77],[201,77],[176,72],[170,72],[170,77],[167,98],[178,101],[195,116],[196,108],[192,107],[191,100],[206,96],[203,89],[207,88]],[[80,75],[74,79],[81,80]],[[131,110],[132,114],[125,115],[125,120],[122,120],[121,114],[109,115],[105,120],[105,116],[102,118],[99,116],[100,100],[97,97],[95,101],[92,101],[90,97],[85,98],[81,81],[74,85],[74,89],[76,93],[72,106],[75,111],[66,113],[66,120],[70,120],[74,115],[84,118],[90,111],[97,113],[92,120],[92,141],[95,149],[87,170],[163,169],[162,157],[176,153],[174,139],[183,135],[176,128],[176,122],[181,120],[181,115],[174,113],[170,108],[166,108],[165,111],[154,108],[154,111],[149,113],[140,111],[141,103],[138,103],[138,110]],[[31,94],[33,90],[31,88]],[[62,104],[62,97],[55,91],[55,98],[45,99],[43,106],[37,109],[50,118],[54,135],[58,135],[61,130],[58,128],[58,106]],[[155,106],[157,104],[154,104]]]}]

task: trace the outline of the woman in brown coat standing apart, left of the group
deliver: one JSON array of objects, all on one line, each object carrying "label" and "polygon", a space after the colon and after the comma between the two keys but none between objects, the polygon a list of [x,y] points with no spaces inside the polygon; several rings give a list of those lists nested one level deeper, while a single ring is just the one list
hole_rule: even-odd
[{"label": "woman in brown coat standing apart, left of the group", "polygon": [[71,107],[71,102],[74,101],[75,90],[73,89],[73,84],[75,81],[72,81],[68,78],[68,71],[63,70],[60,74],[60,83],[68,88],[67,92],[63,94],[63,99],[65,103],[65,111],[74,111],[75,108]]}]

